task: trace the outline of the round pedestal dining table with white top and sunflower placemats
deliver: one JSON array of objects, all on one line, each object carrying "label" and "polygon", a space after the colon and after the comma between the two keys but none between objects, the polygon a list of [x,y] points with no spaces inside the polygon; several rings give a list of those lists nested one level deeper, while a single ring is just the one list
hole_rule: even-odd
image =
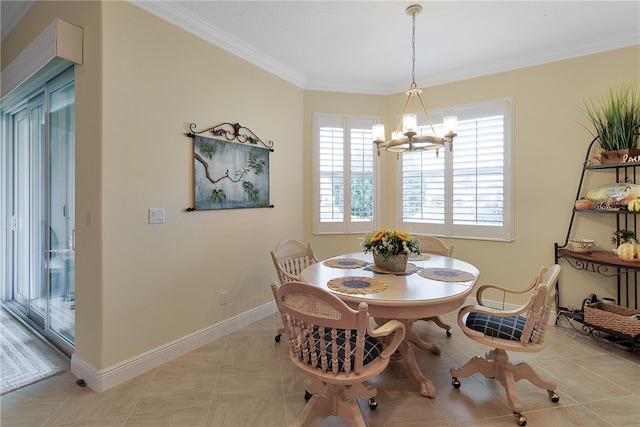
[{"label": "round pedestal dining table with white top and sunflower placemats", "polygon": [[432,398],[435,386],[420,371],[409,343],[434,354],[440,354],[441,348],[423,341],[411,327],[416,320],[461,307],[479,275],[465,261],[424,253],[410,257],[404,272],[391,272],[375,266],[372,255],[363,252],[320,261],[301,273],[305,282],[333,292],[354,309],[366,302],[377,324],[390,319],[404,323],[406,335],[399,355],[420,384],[420,393]]}]

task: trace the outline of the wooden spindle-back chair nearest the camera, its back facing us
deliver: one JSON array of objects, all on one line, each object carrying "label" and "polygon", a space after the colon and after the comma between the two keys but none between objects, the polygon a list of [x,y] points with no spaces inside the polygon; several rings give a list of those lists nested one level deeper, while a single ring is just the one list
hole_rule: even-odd
[{"label": "wooden spindle-back chair nearest the camera, its back facing us", "polygon": [[337,415],[351,426],[366,426],[356,399],[369,399],[371,409],[376,408],[376,389],[364,383],[387,367],[404,339],[404,325],[390,320],[371,329],[366,303],[352,310],[308,283],[274,283],[271,288],[289,337],[291,362],[312,394],[296,425]]}]

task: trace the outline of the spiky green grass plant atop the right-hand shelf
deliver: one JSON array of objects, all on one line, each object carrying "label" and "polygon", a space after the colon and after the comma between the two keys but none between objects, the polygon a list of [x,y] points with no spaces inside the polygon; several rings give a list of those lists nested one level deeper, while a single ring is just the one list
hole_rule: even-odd
[{"label": "spiky green grass plant atop the right-hand shelf", "polygon": [[640,94],[638,87],[609,89],[609,95],[597,102],[584,103],[584,113],[598,138],[602,151],[637,148],[640,136]]}]

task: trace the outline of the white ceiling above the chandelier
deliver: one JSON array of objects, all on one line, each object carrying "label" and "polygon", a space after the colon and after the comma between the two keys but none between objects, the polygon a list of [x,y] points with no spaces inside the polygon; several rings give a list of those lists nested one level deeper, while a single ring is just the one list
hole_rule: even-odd
[{"label": "white ceiling above the chandelier", "polygon": [[[417,1],[130,2],[305,89],[390,94],[411,83],[405,9]],[[3,39],[10,3],[33,2],[2,0]],[[640,45],[637,0],[419,3],[419,87]]]}]

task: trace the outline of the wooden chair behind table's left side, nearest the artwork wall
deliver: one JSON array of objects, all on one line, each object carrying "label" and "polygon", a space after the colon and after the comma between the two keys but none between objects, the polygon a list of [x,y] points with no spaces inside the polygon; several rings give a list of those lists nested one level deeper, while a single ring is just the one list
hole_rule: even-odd
[{"label": "wooden chair behind table's left side, nearest the artwork wall", "polygon": [[[318,258],[313,253],[311,243],[306,246],[297,240],[283,240],[271,251],[271,260],[278,275],[280,285],[292,281],[302,281],[300,273],[308,266],[318,262]],[[276,331],[276,342],[280,342],[280,337],[284,328]]]}]

